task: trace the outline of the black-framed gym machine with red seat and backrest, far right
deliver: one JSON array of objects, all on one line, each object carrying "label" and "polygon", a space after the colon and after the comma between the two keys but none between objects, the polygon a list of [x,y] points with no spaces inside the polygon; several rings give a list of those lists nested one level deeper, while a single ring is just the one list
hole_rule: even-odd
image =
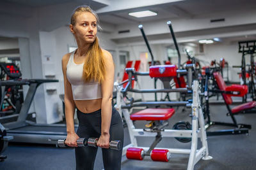
[{"label": "black-framed gym machine with red seat and backrest, far right", "polygon": [[[209,85],[211,81],[212,85]],[[231,85],[226,86],[225,81],[223,80],[220,69],[217,67],[207,67],[205,68],[205,75],[202,82],[202,89],[204,89],[202,97],[202,108],[204,110],[206,124],[205,128],[209,129],[212,125],[221,125],[228,127],[236,127],[236,129],[221,129],[220,131],[207,131],[207,136],[216,136],[216,135],[230,135],[230,134],[248,134],[249,129],[251,129],[251,125],[246,124],[237,124],[237,120],[234,117],[240,111],[246,110],[253,107],[253,103],[247,104],[245,107],[244,104],[242,106],[236,106],[235,108],[230,108],[230,104],[232,104],[231,96],[240,96],[243,97],[247,92],[246,85]],[[211,94],[210,94],[211,93]],[[232,123],[226,122],[214,122],[211,120],[210,115],[210,106],[209,106],[209,98],[214,96],[214,94],[221,94],[223,96],[224,102],[227,106],[228,113],[227,116],[232,118]],[[256,103],[255,103],[256,104]],[[255,105],[254,104],[254,105]]]}]

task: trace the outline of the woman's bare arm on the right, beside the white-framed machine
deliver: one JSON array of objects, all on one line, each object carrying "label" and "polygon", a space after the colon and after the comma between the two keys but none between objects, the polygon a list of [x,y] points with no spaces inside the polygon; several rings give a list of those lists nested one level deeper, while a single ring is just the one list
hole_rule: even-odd
[{"label": "woman's bare arm on the right, beside the white-framed machine", "polygon": [[106,76],[101,85],[102,104],[101,104],[101,136],[97,143],[101,148],[109,148],[109,127],[112,116],[112,98],[115,67],[111,53],[102,50],[106,60]]}]

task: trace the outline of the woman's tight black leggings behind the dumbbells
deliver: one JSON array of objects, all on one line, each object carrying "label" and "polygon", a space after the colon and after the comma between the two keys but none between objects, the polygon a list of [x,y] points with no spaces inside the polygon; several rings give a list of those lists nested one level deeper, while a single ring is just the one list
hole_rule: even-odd
[{"label": "woman's tight black leggings behind the dumbbells", "polygon": [[[92,113],[83,113],[77,110],[77,118],[79,127],[77,135],[80,138],[99,138],[101,127],[101,110]],[[111,125],[109,129],[110,141],[119,140],[124,144],[124,128],[122,118],[118,111],[112,108]],[[77,170],[93,170],[93,165],[97,153],[97,148],[92,146],[76,148],[76,169]],[[102,148],[102,157],[105,170],[120,170],[122,149],[112,150]]]}]

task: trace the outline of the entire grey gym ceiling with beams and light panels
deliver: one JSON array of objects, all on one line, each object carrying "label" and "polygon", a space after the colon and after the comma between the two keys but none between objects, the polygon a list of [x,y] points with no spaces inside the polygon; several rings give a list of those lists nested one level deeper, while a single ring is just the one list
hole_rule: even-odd
[{"label": "entire grey gym ceiling with beams and light panels", "polygon": [[[179,20],[189,18],[207,18],[208,20],[216,19],[212,18],[212,14],[225,13],[228,14],[230,11],[234,13],[241,13],[243,11],[256,9],[255,0],[1,0],[0,2],[0,14],[6,13],[1,9],[1,3],[10,5],[16,5],[22,7],[22,9],[35,9],[35,8],[47,8],[47,6],[56,6],[58,4],[88,4],[93,10],[96,10],[100,21],[111,24],[111,25],[124,25],[124,24],[135,24],[138,25],[141,22],[157,22],[158,20]],[[141,10],[152,10],[157,12],[157,16],[136,18],[128,15],[132,11]],[[17,13],[16,15],[19,15]],[[32,15],[30,13],[24,13],[25,17]],[[223,15],[224,16],[224,15]],[[256,24],[256,22],[255,22]],[[246,25],[237,25],[239,31],[245,29]],[[252,27],[252,26],[250,26]],[[232,28],[234,29],[234,28]],[[215,29],[216,31],[217,29]],[[228,28],[227,30],[230,30]],[[250,28],[252,30],[252,28]],[[196,31],[195,35],[204,34],[204,32],[214,31],[213,29],[205,29]],[[191,34],[191,32],[187,32]],[[192,32],[193,33],[193,32]],[[186,32],[180,33],[184,36]],[[164,36],[164,34],[162,35]],[[179,37],[179,32],[177,34]],[[248,38],[246,36],[234,36],[235,38]],[[255,36],[250,36],[255,37]],[[149,37],[150,39],[150,37]],[[226,38],[228,39],[228,38]],[[129,39],[124,39],[125,41]]]}]

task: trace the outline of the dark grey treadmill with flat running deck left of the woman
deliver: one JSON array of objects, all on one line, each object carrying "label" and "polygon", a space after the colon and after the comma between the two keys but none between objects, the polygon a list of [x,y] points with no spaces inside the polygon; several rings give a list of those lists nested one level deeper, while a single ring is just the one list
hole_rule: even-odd
[{"label": "dark grey treadmill with flat running deck left of the woman", "polygon": [[[28,80],[7,80],[1,81],[1,87],[10,85],[29,85],[29,90],[22,104],[18,118],[14,122],[3,123],[8,136],[13,136],[12,142],[19,143],[40,143],[57,145],[58,139],[67,136],[66,124],[36,124],[26,120],[28,111],[35,97],[36,89],[42,83],[58,82],[58,80],[28,79]],[[3,89],[3,88],[1,88]],[[1,92],[3,94],[3,92]],[[1,96],[3,98],[4,96]],[[77,125],[75,125],[75,130]]]}]

